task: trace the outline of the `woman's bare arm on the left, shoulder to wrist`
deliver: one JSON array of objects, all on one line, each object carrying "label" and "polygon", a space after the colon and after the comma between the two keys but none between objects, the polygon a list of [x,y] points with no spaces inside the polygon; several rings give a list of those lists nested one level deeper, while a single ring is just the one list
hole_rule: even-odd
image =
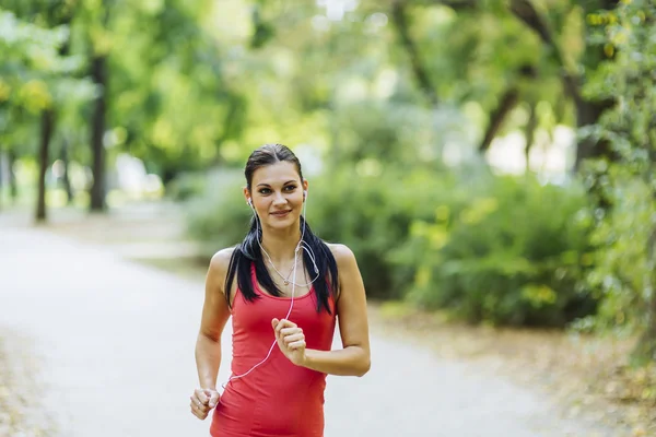
[{"label": "woman's bare arm on the left, shoulder to wrist", "polygon": [[206,296],[200,331],[196,341],[196,367],[202,389],[215,390],[221,365],[221,334],[230,318],[224,282],[232,249],[216,252],[210,261],[206,277]]}]

